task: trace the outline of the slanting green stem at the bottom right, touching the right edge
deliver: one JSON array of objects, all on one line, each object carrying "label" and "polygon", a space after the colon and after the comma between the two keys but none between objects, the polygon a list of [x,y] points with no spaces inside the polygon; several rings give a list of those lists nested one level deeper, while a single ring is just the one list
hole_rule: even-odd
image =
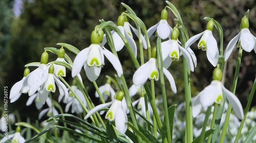
[{"label": "slanting green stem at the bottom right, touching the right edge", "polygon": [[236,136],[236,140],[234,140],[234,143],[238,143],[239,137],[240,137],[240,135],[241,135],[241,132],[242,132],[242,129],[243,129],[245,120],[246,120],[247,113],[248,113],[248,111],[249,111],[249,109],[250,109],[250,105],[251,105],[251,101],[252,101],[252,98],[253,98],[255,89],[256,89],[256,78],[254,79],[254,82],[253,82],[253,85],[252,85],[252,90],[251,90],[251,93],[250,93],[250,96],[249,96],[247,105],[246,105],[246,107],[245,107],[244,119],[241,121],[241,124],[240,124],[239,129],[238,129],[238,134],[237,134],[237,136]]}]

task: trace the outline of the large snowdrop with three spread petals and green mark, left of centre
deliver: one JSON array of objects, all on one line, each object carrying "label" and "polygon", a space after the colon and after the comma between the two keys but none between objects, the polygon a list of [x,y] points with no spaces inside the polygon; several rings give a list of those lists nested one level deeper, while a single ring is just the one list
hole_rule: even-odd
[{"label": "large snowdrop with three spread petals and green mark, left of centre", "polygon": [[113,65],[118,76],[121,77],[123,74],[121,63],[113,53],[100,45],[102,39],[102,30],[94,30],[92,32],[92,44],[88,48],[81,50],[74,60],[72,77],[75,77],[81,71],[82,66],[84,66],[88,79],[92,82],[95,81],[99,77],[101,67],[104,65],[104,55]]}]

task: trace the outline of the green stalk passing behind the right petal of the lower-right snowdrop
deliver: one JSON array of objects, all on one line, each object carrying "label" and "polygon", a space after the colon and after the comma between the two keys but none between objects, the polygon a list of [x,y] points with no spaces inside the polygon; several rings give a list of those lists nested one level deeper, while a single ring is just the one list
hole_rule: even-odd
[{"label": "green stalk passing behind the right petal of the lower-right snowdrop", "polygon": [[[238,53],[238,62],[237,62],[236,72],[234,73],[234,80],[233,80],[233,85],[232,85],[232,93],[233,94],[236,93],[237,82],[238,82],[238,74],[239,74],[239,69],[240,69],[241,59],[242,59],[242,52],[243,52],[243,49],[240,47],[239,48],[239,53]],[[232,110],[232,106],[231,106],[230,103],[228,103],[228,109],[227,109],[227,113],[226,113],[224,126],[222,128],[220,142],[224,142],[224,139],[225,139],[225,136],[226,136],[226,131],[227,131],[227,128],[228,128],[228,122],[229,122],[229,117],[230,117],[231,110]]]}]

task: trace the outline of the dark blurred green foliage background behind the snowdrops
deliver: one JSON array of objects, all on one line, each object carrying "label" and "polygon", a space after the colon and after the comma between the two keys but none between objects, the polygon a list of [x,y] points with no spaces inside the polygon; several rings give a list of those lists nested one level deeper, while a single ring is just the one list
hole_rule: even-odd
[{"label": "dark blurred green foliage background behind the snowdrops", "polygon": [[[140,17],[147,28],[156,24],[160,20],[160,13],[166,6],[164,1],[159,0],[136,0],[136,1],[106,1],[106,0],[35,0],[24,1],[24,11],[19,17],[12,14],[12,1],[1,1],[0,10],[0,85],[8,85],[11,89],[12,85],[22,79],[24,65],[30,62],[39,62],[40,55],[44,51],[44,47],[58,47],[56,43],[68,43],[82,50],[90,45],[90,35],[94,27],[99,24],[99,19],[117,21],[118,16],[125,10],[120,3],[124,2],[134,9],[138,17]],[[223,27],[224,31],[224,48],[227,43],[239,33],[240,20],[247,9],[250,9],[250,31],[255,35],[255,11],[256,5],[254,1],[171,1],[183,18],[187,27],[189,36],[196,35],[205,30],[207,21],[203,20],[205,16],[215,18]],[[174,15],[168,11],[168,22],[171,26],[175,26]],[[131,22],[134,24],[133,22]],[[219,41],[218,32],[214,30],[214,35]],[[155,46],[155,39],[152,38],[152,46]],[[212,70],[214,67],[206,59],[204,51],[197,49],[194,44],[192,48],[197,55],[198,65],[195,72],[191,73],[191,91],[196,96],[211,81]],[[67,50],[66,50],[67,51]],[[75,55],[67,53],[74,59]],[[145,51],[145,55],[146,55]],[[125,71],[125,78],[132,84],[132,76],[135,68],[129,58],[129,54],[125,49],[118,52],[122,55],[121,63]],[[232,78],[234,74],[234,66],[236,65],[237,52],[227,62],[226,69],[226,87],[231,88]],[[255,61],[253,51],[251,53],[244,52],[241,72],[239,76],[237,95],[241,99],[243,105],[246,104],[248,93],[252,87],[252,81],[255,74]],[[57,57],[50,54],[50,60]],[[173,74],[178,93],[175,95],[167,90],[169,105],[184,101],[184,85],[182,60],[174,62],[169,68]],[[72,81],[71,72],[68,72],[67,80]],[[90,95],[94,96],[93,84],[87,80],[82,70],[84,84],[89,89]],[[105,83],[103,75],[113,76],[113,67],[108,61],[102,70],[102,76],[97,80],[98,85]],[[159,82],[159,81],[158,81]],[[166,87],[169,83],[166,82]],[[156,86],[156,94],[160,93],[159,84]],[[3,86],[2,86],[3,87]],[[26,98],[20,98],[13,103],[19,105],[20,110],[26,109]],[[15,106],[12,106],[15,107]]]}]

